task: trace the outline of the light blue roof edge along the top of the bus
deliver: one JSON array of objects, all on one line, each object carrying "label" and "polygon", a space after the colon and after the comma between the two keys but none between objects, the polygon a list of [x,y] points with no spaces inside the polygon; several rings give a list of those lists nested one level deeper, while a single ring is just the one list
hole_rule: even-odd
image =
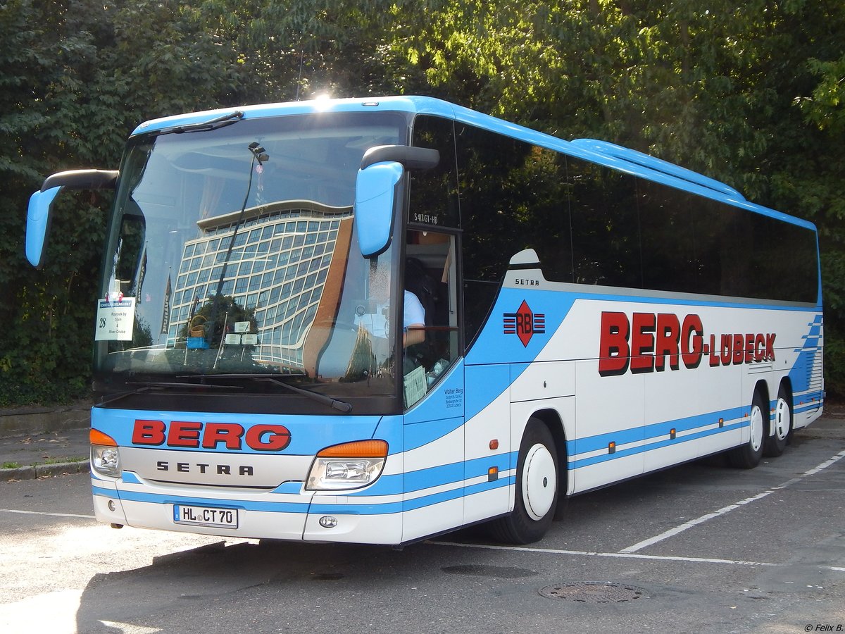
[{"label": "light blue roof edge along the top of the bus", "polygon": [[584,161],[597,163],[619,172],[625,172],[640,178],[656,181],[676,189],[684,189],[692,194],[717,199],[755,213],[771,216],[815,231],[815,225],[781,211],[756,205],[746,200],[738,190],[725,183],[704,176],[685,167],[663,161],[637,150],[630,150],[621,145],[597,139],[558,139],[526,128],[516,123],[495,118],[466,107],[457,106],[426,96],[379,96],[352,99],[316,99],[311,101],[290,101],[286,103],[259,104],[254,106],[218,108],[203,112],[190,112],[172,117],[152,119],[141,123],[134,129],[132,136],[163,132],[168,128],[206,123],[218,118],[267,118],[318,112],[366,112],[366,111],[408,112],[411,114],[430,114],[453,119],[460,123],[488,129],[514,139],[520,139],[534,145],[575,156]]}]

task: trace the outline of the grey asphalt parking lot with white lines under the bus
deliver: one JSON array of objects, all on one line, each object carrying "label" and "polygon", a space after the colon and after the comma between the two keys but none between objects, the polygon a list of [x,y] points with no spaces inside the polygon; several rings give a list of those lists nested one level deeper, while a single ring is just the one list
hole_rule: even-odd
[{"label": "grey asphalt parking lot with white lines under the bus", "polygon": [[[845,630],[845,419],[569,500],[547,537],[402,550],[97,524],[85,473],[0,482],[3,631]],[[842,628],[842,629],[840,629]]]}]

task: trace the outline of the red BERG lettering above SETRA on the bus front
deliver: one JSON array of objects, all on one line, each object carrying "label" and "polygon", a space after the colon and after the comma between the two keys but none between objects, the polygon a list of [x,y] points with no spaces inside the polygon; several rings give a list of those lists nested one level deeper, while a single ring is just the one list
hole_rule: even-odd
[{"label": "red BERG lettering above SETRA on the bus front", "polygon": [[216,450],[222,443],[232,451],[242,450],[246,443],[254,451],[281,451],[291,443],[291,432],[284,425],[258,424],[244,429],[237,423],[174,420],[168,427],[161,420],[139,419],[132,430],[132,442],[134,445],[210,450]]}]

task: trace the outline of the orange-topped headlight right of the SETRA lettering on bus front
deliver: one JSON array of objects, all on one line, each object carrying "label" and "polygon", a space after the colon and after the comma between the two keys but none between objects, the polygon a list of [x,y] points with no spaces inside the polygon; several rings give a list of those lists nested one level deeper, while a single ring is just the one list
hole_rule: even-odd
[{"label": "orange-topped headlight right of the SETRA lettering on bus front", "polygon": [[314,458],[305,488],[312,491],[360,489],[379,478],[386,458],[384,440],[359,440],[326,447]]}]

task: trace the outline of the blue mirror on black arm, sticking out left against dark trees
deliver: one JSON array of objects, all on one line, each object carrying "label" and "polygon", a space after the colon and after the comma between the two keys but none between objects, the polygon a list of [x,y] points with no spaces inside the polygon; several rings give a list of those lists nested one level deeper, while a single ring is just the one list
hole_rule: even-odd
[{"label": "blue mirror on black arm, sticking out left against dark trees", "polygon": [[107,170],[74,170],[47,177],[41,191],[30,196],[26,212],[26,259],[40,269],[44,265],[50,213],[53,201],[62,189],[114,189],[118,172]]}]

